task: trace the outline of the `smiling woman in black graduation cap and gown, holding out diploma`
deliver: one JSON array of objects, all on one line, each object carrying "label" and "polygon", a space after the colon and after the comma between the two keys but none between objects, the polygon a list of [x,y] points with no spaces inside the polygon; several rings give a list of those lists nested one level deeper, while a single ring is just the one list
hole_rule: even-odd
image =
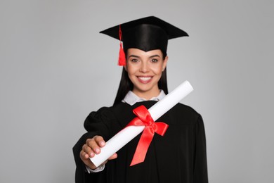
[{"label": "smiling woman in black graduation cap and gown, holding out diploma", "polygon": [[[121,32],[122,31],[122,32]],[[150,108],[167,94],[167,40],[188,36],[155,17],[141,18],[101,33],[123,42],[122,78],[112,107],[86,118],[87,132],[74,146],[76,182],[208,182],[204,125],[199,113],[178,103],[159,120],[169,125],[152,139],[143,163],[130,166],[140,135],[96,168],[90,158],[122,130],[138,106]],[[120,53],[123,53],[120,51]]]}]

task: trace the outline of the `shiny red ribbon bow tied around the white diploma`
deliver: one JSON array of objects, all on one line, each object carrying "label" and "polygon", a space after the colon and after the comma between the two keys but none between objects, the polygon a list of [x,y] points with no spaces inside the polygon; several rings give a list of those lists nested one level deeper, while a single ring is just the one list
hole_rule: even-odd
[{"label": "shiny red ribbon bow tied around the white diploma", "polygon": [[133,109],[133,113],[135,113],[137,117],[131,120],[127,126],[145,126],[145,130],[143,130],[143,134],[138,142],[136,151],[131,161],[131,166],[142,163],[145,160],[145,155],[155,132],[161,136],[164,136],[164,133],[169,127],[169,125],[164,122],[154,122],[145,106],[139,106],[138,108]]}]

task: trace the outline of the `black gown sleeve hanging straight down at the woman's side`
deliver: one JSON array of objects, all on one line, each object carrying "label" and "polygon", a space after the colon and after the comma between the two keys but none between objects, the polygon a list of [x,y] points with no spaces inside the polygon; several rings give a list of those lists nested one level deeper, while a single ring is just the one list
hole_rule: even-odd
[{"label": "black gown sleeve hanging straight down at the woman's side", "polygon": [[204,132],[204,122],[199,115],[195,124],[195,160],[194,183],[207,183],[207,146]]}]

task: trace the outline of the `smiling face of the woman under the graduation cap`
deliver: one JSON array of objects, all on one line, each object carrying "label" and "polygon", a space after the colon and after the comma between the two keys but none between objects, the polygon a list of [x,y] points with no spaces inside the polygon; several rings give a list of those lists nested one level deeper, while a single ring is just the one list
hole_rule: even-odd
[{"label": "smiling face of the woman under the graduation cap", "polygon": [[158,81],[166,68],[168,58],[159,49],[142,51],[128,49],[125,69],[133,83],[133,93],[144,99],[159,94]]}]

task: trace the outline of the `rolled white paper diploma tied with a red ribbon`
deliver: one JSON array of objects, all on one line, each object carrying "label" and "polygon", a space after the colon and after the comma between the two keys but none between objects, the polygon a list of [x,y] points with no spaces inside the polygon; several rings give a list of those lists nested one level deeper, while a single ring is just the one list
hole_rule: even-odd
[{"label": "rolled white paper diploma tied with a red ribbon", "polygon": [[[178,102],[181,101],[185,96],[193,92],[193,87],[188,81],[180,84],[174,91],[167,94],[164,99],[158,101],[151,108],[148,109],[150,115],[154,121],[160,118],[164,113],[167,113],[171,108],[173,108]],[[99,154],[96,154],[93,158],[90,158],[92,163],[98,167],[107,158],[110,158],[112,154],[116,153],[124,145],[129,143],[134,137],[143,132],[145,126],[129,126],[125,127],[123,130],[115,134],[111,139],[109,139],[105,146],[102,147]]]}]

